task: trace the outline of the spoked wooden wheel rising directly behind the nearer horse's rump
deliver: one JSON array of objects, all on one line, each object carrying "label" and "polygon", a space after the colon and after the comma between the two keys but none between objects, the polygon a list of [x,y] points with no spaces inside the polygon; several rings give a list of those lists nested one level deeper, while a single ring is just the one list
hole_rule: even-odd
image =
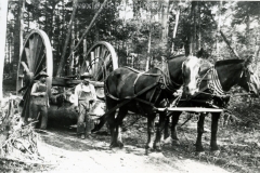
[{"label": "spoked wooden wheel rising directly behind the nearer horse's rump", "polygon": [[108,42],[99,41],[87,52],[79,75],[90,72],[94,81],[104,81],[116,68],[118,57],[115,49]]}]

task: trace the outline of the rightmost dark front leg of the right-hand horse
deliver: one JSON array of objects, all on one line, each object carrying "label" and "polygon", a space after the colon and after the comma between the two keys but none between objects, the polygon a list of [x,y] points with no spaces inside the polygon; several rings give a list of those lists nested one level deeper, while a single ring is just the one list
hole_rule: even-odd
[{"label": "rightmost dark front leg of the right-hand horse", "polygon": [[219,150],[218,144],[217,144],[217,133],[218,133],[218,123],[220,118],[220,112],[212,112],[211,118],[211,141],[210,141],[210,148],[212,151]]}]

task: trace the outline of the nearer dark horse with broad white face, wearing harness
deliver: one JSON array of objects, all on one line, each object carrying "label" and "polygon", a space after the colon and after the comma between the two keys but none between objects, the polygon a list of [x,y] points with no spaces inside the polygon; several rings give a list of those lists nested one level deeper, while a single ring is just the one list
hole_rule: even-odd
[{"label": "nearer dark horse with broad white face, wearing harness", "polygon": [[[146,151],[152,150],[152,147],[160,150],[161,131],[156,132],[154,144],[152,142],[155,136],[156,107],[167,105],[169,102],[166,101],[172,99],[173,92],[182,85],[187,96],[197,92],[199,63],[200,59],[196,56],[179,55],[169,61],[162,58],[161,69],[154,67],[148,71],[139,72],[129,67],[120,67],[112,71],[104,82],[107,111],[96,125],[102,127],[105,121],[108,123],[110,147],[123,147],[120,127],[127,112],[132,111],[147,118]],[[165,119],[164,114],[159,114],[159,118]],[[159,129],[164,125],[161,121]],[[96,130],[92,130],[94,131]]]}]

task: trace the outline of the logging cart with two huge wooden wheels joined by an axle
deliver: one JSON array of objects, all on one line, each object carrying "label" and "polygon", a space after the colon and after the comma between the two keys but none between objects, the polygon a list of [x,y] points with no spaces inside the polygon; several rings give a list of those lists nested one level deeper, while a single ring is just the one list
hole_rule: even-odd
[{"label": "logging cart with two huge wooden wheels joined by an axle", "polygon": [[[100,41],[88,50],[77,76],[90,72],[94,81],[102,83],[116,68],[118,68],[118,57],[115,49],[108,42]],[[34,29],[25,39],[17,69],[16,93],[22,94],[24,99],[22,116],[29,115],[31,86],[40,71],[46,71],[49,76],[47,78],[49,98],[52,96],[52,86],[72,88],[81,82],[78,78],[53,77],[50,40],[43,30]]]}]

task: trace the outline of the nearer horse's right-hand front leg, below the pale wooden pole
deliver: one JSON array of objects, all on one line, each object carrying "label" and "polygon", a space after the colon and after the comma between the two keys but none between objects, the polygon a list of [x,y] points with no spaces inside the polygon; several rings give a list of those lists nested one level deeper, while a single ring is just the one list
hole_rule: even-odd
[{"label": "nearer horse's right-hand front leg, below the pale wooden pole", "polygon": [[161,112],[159,114],[159,125],[156,130],[156,137],[153,146],[154,149],[157,151],[161,151],[160,138],[161,138],[161,132],[165,129],[165,122],[166,122],[166,114]]}]

